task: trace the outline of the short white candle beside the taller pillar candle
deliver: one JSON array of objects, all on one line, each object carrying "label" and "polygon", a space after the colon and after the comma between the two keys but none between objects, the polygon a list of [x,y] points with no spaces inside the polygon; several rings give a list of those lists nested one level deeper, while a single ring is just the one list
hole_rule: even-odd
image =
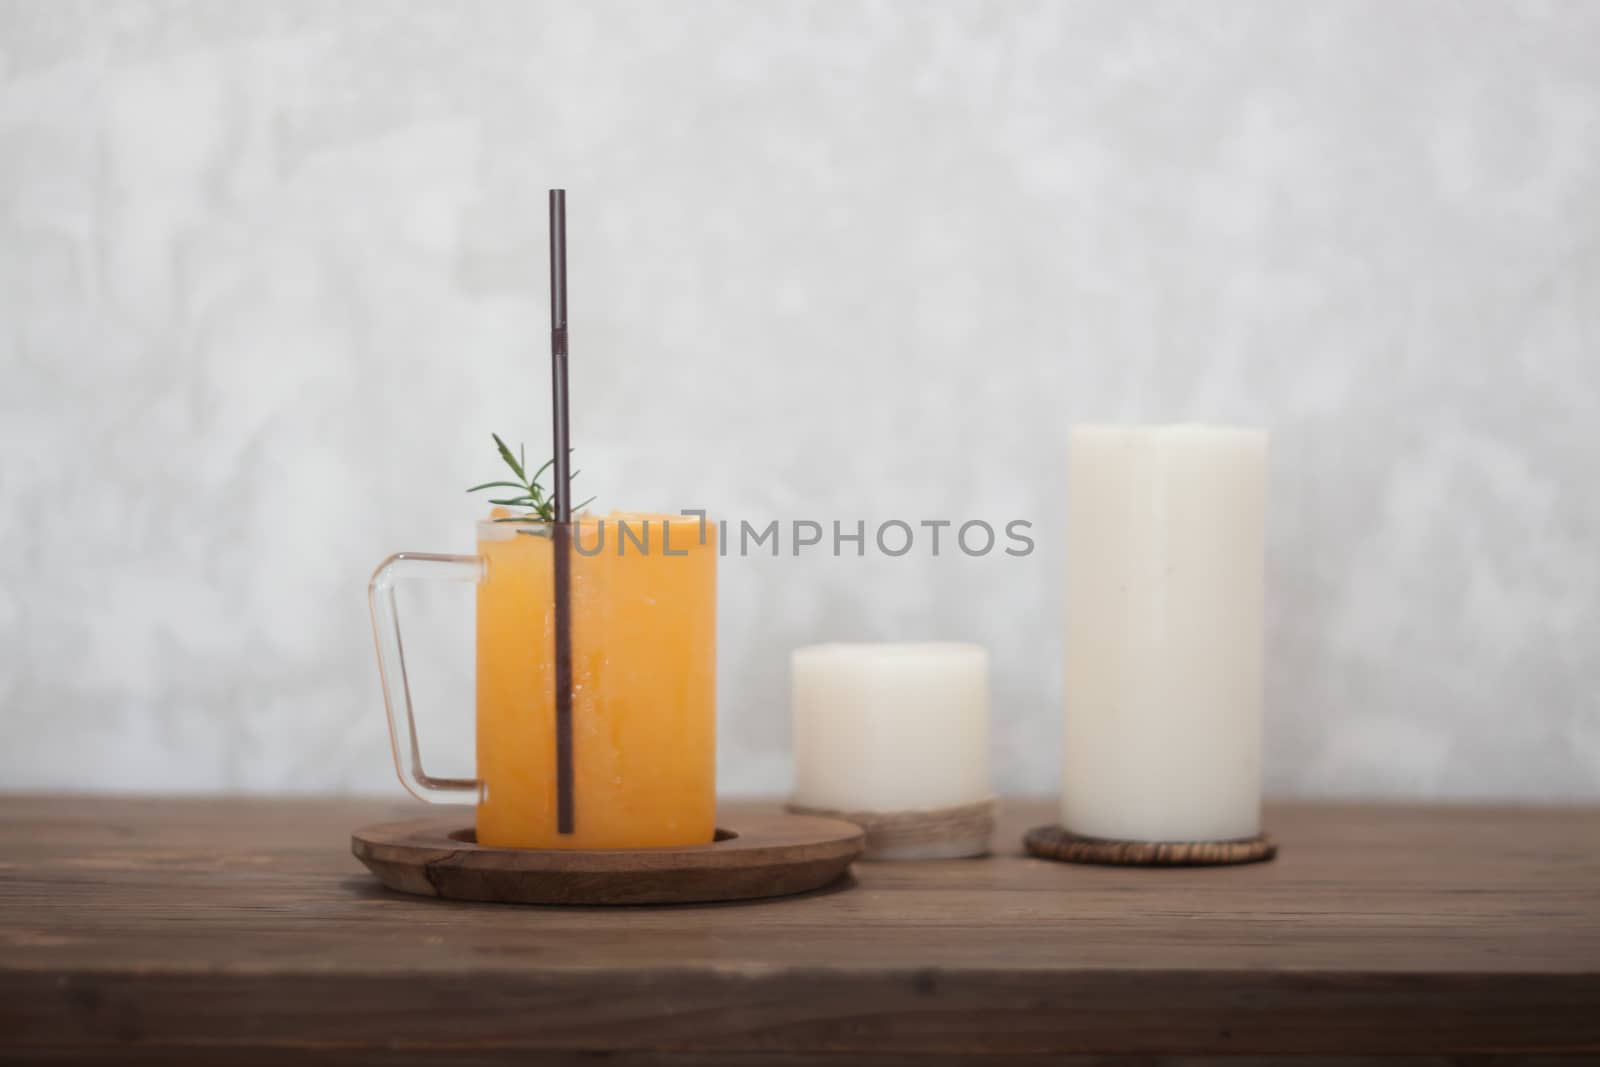
[{"label": "short white candle beside the taller pillar candle", "polygon": [[790,659],[794,803],[931,811],[989,800],[989,653],[813,645]]}]

